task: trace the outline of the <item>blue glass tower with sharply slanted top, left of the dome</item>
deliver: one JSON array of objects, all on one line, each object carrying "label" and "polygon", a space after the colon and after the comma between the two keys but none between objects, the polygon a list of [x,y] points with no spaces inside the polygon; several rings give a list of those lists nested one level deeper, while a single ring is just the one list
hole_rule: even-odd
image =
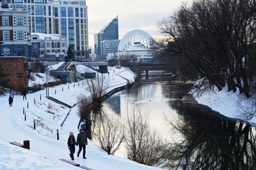
[{"label": "blue glass tower with sharply slanted top, left of the dome", "polygon": [[103,40],[118,40],[118,16],[98,34],[94,34],[94,50],[96,55],[101,55],[101,41]]}]

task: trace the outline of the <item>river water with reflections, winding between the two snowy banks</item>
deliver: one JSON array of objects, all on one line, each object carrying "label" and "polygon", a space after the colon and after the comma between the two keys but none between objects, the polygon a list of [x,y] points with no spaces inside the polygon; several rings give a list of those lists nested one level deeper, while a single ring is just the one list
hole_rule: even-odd
[{"label": "river water with reflections, winding between the two snowy banks", "polygon": [[[168,141],[166,169],[254,170],[256,129],[246,122],[226,118],[198,104],[189,84],[168,84],[168,74],[150,72],[140,85],[116,93],[107,101],[109,114],[125,114],[126,105],[142,105],[149,112],[152,129]],[[125,157],[121,147],[118,156]]]}]

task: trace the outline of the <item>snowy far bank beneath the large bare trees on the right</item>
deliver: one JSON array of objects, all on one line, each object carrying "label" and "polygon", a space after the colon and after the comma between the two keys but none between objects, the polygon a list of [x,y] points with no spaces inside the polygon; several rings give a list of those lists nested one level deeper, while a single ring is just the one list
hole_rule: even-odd
[{"label": "snowy far bank beneath the large bare trees on the right", "polygon": [[[236,93],[227,92],[227,87],[224,87],[221,91],[216,89],[215,92],[207,92],[200,97],[196,96],[195,93],[193,95],[199,104],[204,104],[227,117],[243,120],[239,113],[241,111],[239,106],[242,104],[243,107],[246,107],[248,103],[247,99],[241,101],[242,94],[239,94],[238,90]],[[256,123],[256,117],[248,121]]]}]

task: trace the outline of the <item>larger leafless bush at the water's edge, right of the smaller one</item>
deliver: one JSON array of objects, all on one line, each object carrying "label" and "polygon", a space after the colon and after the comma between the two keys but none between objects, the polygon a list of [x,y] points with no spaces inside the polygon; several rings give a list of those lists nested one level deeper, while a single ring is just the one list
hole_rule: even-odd
[{"label": "larger leafless bush at the water's edge, right of the smaller one", "polygon": [[151,131],[148,121],[148,112],[143,112],[139,105],[126,107],[125,137],[127,157],[132,161],[149,166],[165,167],[163,154],[163,141]]}]

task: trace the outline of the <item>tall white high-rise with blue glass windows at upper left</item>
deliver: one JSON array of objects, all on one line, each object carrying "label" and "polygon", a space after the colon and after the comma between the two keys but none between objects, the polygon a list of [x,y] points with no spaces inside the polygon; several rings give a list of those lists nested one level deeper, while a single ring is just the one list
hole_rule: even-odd
[{"label": "tall white high-rise with blue glass windows at upper left", "polygon": [[74,55],[89,56],[86,0],[4,0],[26,5],[28,32],[67,38]]}]

